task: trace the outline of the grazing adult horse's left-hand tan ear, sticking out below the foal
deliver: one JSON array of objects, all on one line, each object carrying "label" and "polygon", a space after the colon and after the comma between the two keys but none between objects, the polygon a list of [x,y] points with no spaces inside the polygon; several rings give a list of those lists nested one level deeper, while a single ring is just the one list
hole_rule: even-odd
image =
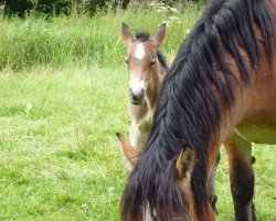
[{"label": "grazing adult horse's left-hand tan ear, sticking out below the foal", "polygon": [[136,166],[141,152],[136,148],[134,148],[120,133],[117,133],[116,135],[119,139],[124,156],[127,158],[127,161],[129,162],[128,169],[131,171]]}]

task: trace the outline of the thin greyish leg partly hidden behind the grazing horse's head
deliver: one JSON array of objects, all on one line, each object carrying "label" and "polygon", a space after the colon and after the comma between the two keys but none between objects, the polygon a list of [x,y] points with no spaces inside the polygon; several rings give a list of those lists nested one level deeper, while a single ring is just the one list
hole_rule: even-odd
[{"label": "thin greyish leg partly hidden behind the grazing horse's head", "polygon": [[221,154],[219,152],[215,157],[215,161],[212,166],[212,169],[208,179],[208,199],[213,208],[213,211],[216,213],[217,213],[217,210],[215,208],[215,203],[217,201],[217,196],[215,194],[215,171],[220,162],[220,159],[221,159]]}]

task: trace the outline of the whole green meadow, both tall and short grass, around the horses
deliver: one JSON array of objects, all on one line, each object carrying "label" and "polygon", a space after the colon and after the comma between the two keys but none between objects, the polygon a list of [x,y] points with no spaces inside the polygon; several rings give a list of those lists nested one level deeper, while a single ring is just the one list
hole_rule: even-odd
[{"label": "whole green meadow, both tall and short grass, around the horses", "polygon": [[[171,62],[202,8],[0,18],[0,220],[119,220],[127,179],[115,133],[128,136],[126,48],[168,22]],[[254,145],[258,220],[276,220],[275,146]],[[225,151],[219,221],[234,219]]]}]

